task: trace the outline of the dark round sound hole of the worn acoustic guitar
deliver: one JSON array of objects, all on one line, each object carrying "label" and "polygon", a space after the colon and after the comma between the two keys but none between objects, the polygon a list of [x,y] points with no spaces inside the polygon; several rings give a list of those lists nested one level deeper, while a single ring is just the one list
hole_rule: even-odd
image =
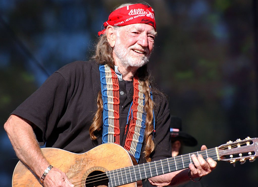
[{"label": "dark round sound hole of the worn acoustic guitar", "polygon": [[108,186],[108,177],[104,172],[95,170],[86,177],[85,186]]}]

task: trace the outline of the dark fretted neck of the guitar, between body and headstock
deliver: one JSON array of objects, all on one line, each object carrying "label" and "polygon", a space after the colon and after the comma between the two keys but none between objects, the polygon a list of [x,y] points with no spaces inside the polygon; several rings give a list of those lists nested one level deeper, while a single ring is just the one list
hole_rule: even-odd
[{"label": "dark fretted neck of the guitar, between body and headstock", "polygon": [[215,147],[204,151],[197,151],[158,161],[151,161],[135,166],[111,170],[106,172],[109,178],[109,186],[120,186],[188,168],[189,163],[193,163],[191,159],[192,154],[195,154],[196,156],[201,154],[205,160],[208,157],[211,157],[213,160],[218,160],[219,158],[217,154],[217,147]]}]

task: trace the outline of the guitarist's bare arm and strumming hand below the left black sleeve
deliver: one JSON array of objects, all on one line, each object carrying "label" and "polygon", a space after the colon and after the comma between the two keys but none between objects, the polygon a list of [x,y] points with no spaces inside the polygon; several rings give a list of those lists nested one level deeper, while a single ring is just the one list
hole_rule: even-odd
[{"label": "guitarist's bare arm and strumming hand below the left black sleeve", "polygon": [[[36,140],[34,124],[15,115],[11,115],[4,124],[4,129],[12,143],[17,157],[25,163],[37,176],[41,177],[49,162],[42,155]],[[21,136],[22,135],[22,136]],[[42,166],[42,167],[38,167]],[[74,186],[60,169],[53,167],[47,173],[44,186]]]}]

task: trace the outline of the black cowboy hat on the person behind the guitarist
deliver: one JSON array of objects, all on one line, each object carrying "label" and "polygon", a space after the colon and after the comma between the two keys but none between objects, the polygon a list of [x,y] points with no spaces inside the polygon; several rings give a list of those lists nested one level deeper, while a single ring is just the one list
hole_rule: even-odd
[{"label": "black cowboy hat on the person behind the guitarist", "polygon": [[170,138],[172,141],[181,140],[187,146],[196,146],[198,143],[194,137],[182,131],[182,119],[177,116],[171,116]]}]

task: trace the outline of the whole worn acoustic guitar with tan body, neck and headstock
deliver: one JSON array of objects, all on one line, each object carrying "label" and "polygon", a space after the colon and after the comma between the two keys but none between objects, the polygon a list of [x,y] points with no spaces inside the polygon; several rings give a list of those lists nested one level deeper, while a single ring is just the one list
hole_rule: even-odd
[{"label": "whole worn acoustic guitar with tan body, neck and headstock", "polygon": [[[76,154],[57,148],[42,148],[42,153],[53,165],[66,173],[75,186],[136,186],[136,181],[188,168],[193,163],[191,154],[204,159],[222,160],[235,164],[254,161],[258,155],[258,138],[229,141],[218,147],[151,161],[137,165],[134,157],[114,143],[96,146]],[[40,179],[19,161],[14,169],[12,186],[42,186]]]}]

